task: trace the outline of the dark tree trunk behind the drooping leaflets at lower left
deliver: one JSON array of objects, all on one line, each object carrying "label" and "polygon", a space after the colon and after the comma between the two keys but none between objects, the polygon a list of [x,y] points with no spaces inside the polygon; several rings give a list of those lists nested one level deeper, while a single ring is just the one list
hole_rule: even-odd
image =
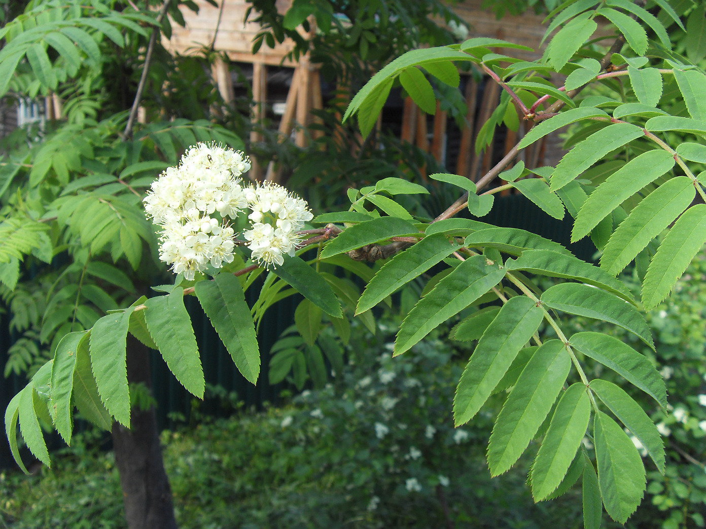
[{"label": "dark tree trunk behind the drooping leaflets at lower left", "polygon": [[[152,386],[150,350],[133,336],[127,339],[128,381]],[[172,489],[164,472],[155,409],[131,411],[131,428],[113,423],[113,449],[120,473],[129,529],[177,529]]]}]

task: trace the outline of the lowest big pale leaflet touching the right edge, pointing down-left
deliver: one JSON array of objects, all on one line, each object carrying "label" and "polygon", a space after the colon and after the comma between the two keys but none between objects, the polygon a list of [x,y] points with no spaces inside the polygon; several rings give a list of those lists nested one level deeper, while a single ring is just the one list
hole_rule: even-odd
[{"label": "lowest big pale leaflet touching the right edge, pointing down-left", "polygon": [[706,243],[706,205],[690,207],[669,229],[642,281],[642,303],[651,310],[669,296],[676,281]]}]

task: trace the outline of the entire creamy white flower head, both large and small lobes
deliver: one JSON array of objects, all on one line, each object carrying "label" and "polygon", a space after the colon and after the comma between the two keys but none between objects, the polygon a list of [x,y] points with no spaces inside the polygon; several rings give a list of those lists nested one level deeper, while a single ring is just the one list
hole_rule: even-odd
[{"label": "entire creamy white flower head, both large and small lobes", "polygon": [[241,186],[250,169],[242,152],[213,143],[190,147],[179,165],[169,167],[143,200],[160,226],[160,260],[188,280],[208,266],[234,258],[235,233],[229,220],[249,207],[251,229],[244,231],[252,258],[266,268],[282,265],[301,243],[297,231],[313,218],[306,201],[275,183]]}]

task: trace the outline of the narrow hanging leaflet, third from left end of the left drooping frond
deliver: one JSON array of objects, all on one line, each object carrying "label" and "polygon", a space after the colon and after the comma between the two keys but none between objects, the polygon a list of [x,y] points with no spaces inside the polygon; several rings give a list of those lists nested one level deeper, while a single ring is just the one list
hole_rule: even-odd
[{"label": "narrow hanging leaflet, third from left end of the left drooping frond", "polygon": [[54,427],[66,444],[71,444],[73,430],[73,370],[76,368],[78,344],[88,340],[88,331],[70,332],[59,341],[52,363],[52,418]]}]

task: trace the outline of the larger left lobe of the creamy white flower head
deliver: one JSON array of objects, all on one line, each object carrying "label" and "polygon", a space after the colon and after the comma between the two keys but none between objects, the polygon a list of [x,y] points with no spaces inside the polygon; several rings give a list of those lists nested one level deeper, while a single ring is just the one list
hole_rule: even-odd
[{"label": "larger left lobe of the creamy white flower head", "polygon": [[247,205],[239,177],[248,169],[243,153],[199,143],[152,183],[145,212],[162,228],[160,260],[175,274],[193,279],[209,264],[232,262],[235,233],[227,219]]}]

